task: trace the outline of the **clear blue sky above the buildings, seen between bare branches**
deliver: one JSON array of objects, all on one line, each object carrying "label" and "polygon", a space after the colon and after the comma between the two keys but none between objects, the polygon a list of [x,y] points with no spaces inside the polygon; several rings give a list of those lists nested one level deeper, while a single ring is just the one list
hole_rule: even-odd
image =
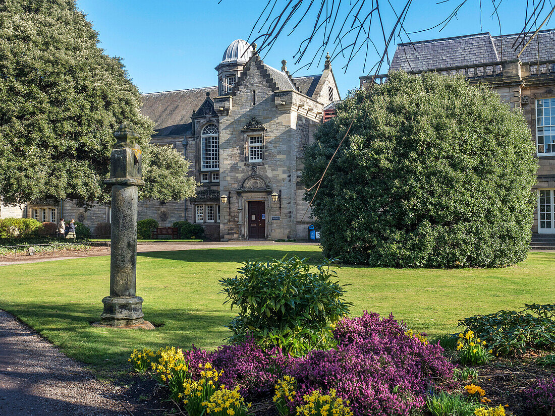
[{"label": "clear blue sky above the buildings, seen between bare branches", "polygon": [[[401,8],[402,0],[390,0],[394,7]],[[480,19],[480,1],[483,6]],[[348,5],[348,0],[343,0]],[[351,0],[352,2],[352,0]],[[319,2],[316,2],[319,3]],[[436,5],[436,1],[415,0],[405,21],[407,32],[418,31],[433,26],[445,19],[459,0],[448,0]],[[498,3],[498,0],[496,0]],[[524,0],[504,0],[499,7],[502,33],[521,31],[524,23]],[[266,1],[260,0],[78,0],[78,7],[87,14],[93,27],[99,32],[100,47],[111,56],[123,58],[133,82],[140,92],[158,92],[185,88],[216,85],[214,67],[220,63],[225,48],[234,39],[247,39],[251,27],[258,19]],[[391,30],[396,18],[386,0],[381,0],[381,13],[386,31]],[[546,9],[551,9],[546,6]],[[428,32],[411,34],[413,41],[457,36],[462,34],[491,32],[499,34],[499,24],[491,16],[491,0],[468,0],[457,14],[457,19],[441,32],[439,28]],[[544,10],[540,22],[547,16]],[[293,64],[292,55],[299,48],[300,40],[310,31],[311,16],[291,36],[278,40],[264,62],[281,68],[281,60],[287,60],[287,69],[294,72],[308,62]],[[554,27],[549,22],[544,28]],[[376,26],[372,32],[377,47],[381,32]],[[406,37],[402,36],[406,42]],[[395,45],[390,53],[394,52]],[[330,49],[330,53],[332,52]],[[369,53],[367,60],[374,64],[378,56]],[[342,69],[346,59],[337,57],[332,68],[339,84],[342,97],[347,90],[359,85],[363,73],[364,55],[355,58],[346,70]],[[300,69],[295,76],[316,74],[323,69],[323,63],[311,68]],[[387,68],[384,68],[386,72]]]}]

